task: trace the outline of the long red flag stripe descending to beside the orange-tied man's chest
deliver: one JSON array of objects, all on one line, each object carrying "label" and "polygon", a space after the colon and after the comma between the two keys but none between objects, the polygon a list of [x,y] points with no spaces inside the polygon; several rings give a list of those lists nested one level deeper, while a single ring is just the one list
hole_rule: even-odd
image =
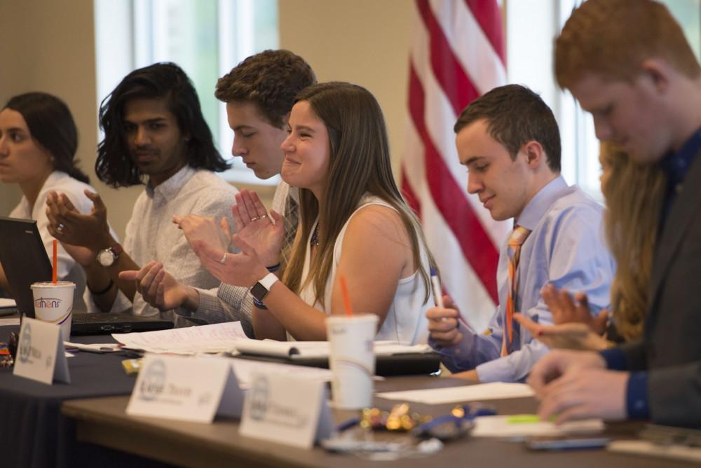
[{"label": "long red flag stripe descending to beside the orange-tied man's chest", "polygon": [[484,284],[484,289],[489,293],[494,303],[497,303],[498,251],[484,230],[482,223],[479,222],[479,218],[472,211],[470,202],[465,199],[464,192],[450,174],[445,161],[433,145],[424,121],[426,115],[424,112],[423,85],[416,76],[414,64],[411,64],[409,67],[409,113],[416,132],[423,141],[426,153],[426,178],[431,196],[447,225],[456,236],[470,267]]}]

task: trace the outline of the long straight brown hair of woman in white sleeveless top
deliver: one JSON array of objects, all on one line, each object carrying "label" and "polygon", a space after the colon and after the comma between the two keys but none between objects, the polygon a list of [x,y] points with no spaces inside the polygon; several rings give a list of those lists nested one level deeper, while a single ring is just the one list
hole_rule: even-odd
[{"label": "long straight brown hair of woman in white sleeveless top", "polygon": [[[358,208],[363,195],[371,193],[400,214],[411,240],[414,265],[423,279],[424,301],[428,301],[430,280],[421,262],[420,245],[426,250],[430,265],[435,265],[435,262],[416,216],[395,183],[385,121],[377,100],[361,86],[332,82],[306,88],[295,99],[295,102],[300,101],[309,103],[329,132],[329,172],[322,200],[317,200],[305,188],[299,190],[300,224],[283,282],[298,294],[311,282],[316,301],[324,303],[336,238]],[[317,217],[319,246],[309,275],[302,284],[306,242]]]}]

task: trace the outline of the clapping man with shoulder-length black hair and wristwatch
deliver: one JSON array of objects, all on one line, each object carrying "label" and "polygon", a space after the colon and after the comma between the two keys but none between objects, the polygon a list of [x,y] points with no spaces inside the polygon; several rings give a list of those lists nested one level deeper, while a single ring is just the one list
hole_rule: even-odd
[{"label": "clapping man with shoulder-length black hair and wristwatch", "polygon": [[156,260],[186,284],[216,286],[171,221],[190,213],[231,219],[236,188],[214,174],[230,165],[215,148],[191,81],[172,63],[128,74],[102,102],[100,127],[97,177],[115,188],[146,186],[127,224],[124,247],[109,234],[107,208],[96,193],[87,193],[95,205],[89,215],[76,212],[64,196],[50,195],[53,235],[86,270],[89,308],[118,312],[131,306],[137,315],[175,319],[149,306],[135,282],[118,275]]}]

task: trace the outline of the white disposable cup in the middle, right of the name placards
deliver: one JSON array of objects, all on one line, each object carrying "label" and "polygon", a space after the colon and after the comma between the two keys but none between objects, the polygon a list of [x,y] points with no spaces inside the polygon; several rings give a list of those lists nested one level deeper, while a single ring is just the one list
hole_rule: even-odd
[{"label": "white disposable cup in the middle, right of the name placards", "polygon": [[333,374],[331,387],[336,408],[361,409],[372,405],[373,343],[377,321],[374,314],[334,315],[326,319],[329,364]]}]

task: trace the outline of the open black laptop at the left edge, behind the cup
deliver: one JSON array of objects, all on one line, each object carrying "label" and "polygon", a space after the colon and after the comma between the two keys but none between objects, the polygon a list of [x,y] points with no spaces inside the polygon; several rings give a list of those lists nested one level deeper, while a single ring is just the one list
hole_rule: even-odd
[{"label": "open black laptop at the left edge, behind the cup", "polygon": [[[51,281],[52,268],[36,221],[0,216],[0,263],[22,317],[34,318],[32,283]],[[74,310],[72,335],[171,329],[173,323],[131,314],[88,314]]]}]

